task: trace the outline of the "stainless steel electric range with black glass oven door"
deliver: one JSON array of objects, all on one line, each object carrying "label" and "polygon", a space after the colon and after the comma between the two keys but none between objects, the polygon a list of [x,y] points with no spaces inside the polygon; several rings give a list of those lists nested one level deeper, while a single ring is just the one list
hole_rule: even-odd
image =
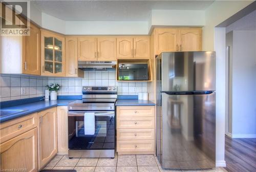
[{"label": "stainless steel electric range with black glass oven door", "polygon": [[[117,87],[82,87],[82,100],[68,104],[69,157],[115,157]],[[84,113],[93,112],[95,132],[87,135]]]}]

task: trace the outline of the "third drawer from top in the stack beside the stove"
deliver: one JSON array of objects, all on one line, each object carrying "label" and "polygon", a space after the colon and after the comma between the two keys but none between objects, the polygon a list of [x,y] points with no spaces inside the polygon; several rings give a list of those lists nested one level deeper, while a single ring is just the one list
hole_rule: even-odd
[{"label": "third drawer from top in the stack beside the stove", "polygon": [[117,140],[154,140],[154,129],[118,129]]}]

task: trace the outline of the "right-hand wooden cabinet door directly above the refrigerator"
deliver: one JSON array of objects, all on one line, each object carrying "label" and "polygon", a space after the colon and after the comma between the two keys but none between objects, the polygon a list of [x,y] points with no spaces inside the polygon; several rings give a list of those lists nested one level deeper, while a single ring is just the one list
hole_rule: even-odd
[{"label": "right-hand wooden cabinet door directly above the refrigerator", "polygon": [[202,29],[184,28],[179,30],[180,51],[202,50]]}]

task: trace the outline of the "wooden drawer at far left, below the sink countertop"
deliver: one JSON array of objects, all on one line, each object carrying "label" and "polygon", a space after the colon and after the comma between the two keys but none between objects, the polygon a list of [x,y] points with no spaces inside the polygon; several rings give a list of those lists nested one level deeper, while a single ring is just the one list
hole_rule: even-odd
[{"label": "wooden drawer at far left, below the sink countertop", "polygon": [[25,117],[20,117],[0,125],[1,141],[3,143],[20,134],[23,134],[37,126],[37,114],[31,114]]}]

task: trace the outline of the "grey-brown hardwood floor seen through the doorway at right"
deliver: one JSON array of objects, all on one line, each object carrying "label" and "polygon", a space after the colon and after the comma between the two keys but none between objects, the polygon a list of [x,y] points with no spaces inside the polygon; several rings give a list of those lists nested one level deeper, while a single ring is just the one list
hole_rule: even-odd
[{"label": "grey-brown hardwood floor seen through the doorway at right", "polygon": [[227,171],[256,171],[256,139],[232,139],[225,137]]}]

